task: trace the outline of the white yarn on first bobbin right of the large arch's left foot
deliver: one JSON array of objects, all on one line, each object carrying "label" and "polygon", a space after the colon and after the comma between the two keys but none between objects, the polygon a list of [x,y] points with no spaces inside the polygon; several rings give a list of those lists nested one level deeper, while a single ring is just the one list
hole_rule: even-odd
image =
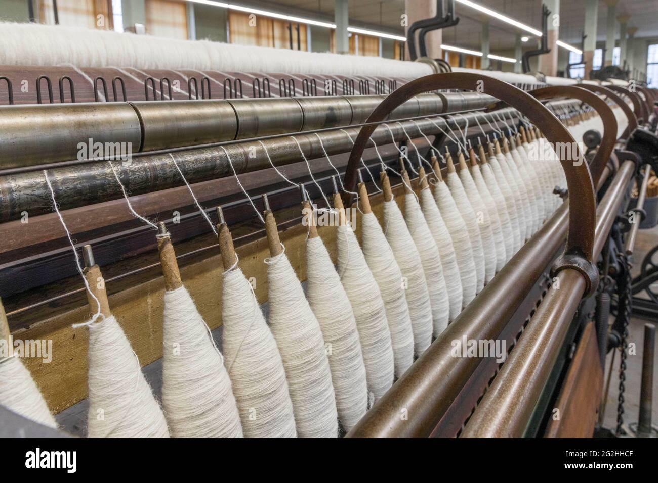
[{"label": "white yarn on first bobbin right of the large arch's left foot", "polygon": [[402,287],[402,272],[379,221],[372,213],[361,216],[361,244],[363,256],[384,300],[395,359],[395,377],[400,377],[413,363],[411,315]]}]

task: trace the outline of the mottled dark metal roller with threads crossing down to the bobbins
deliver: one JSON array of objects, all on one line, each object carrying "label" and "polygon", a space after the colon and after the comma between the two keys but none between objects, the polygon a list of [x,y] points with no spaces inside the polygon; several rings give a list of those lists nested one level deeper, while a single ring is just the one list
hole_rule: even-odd
[{"label": "mottled dark metal roller with threads crossing down to the bobbins", "polygon": [[[510,112],[513,110],[510,109]],[[492,114],[478,113],[478,116],[489,117]],[[456,116],[451,121],[451,127],[455,122],[464,127],[467,120],[472,123],[472,118],[473,114]],[[437,125],[448,129],[447,122],[442,118],[421,119],[392,123],[390,130],[378,126],[372,139],[377,145],[387,145],[393,139],[407,139],[407,134],[420,138],[420,131],[426,135],[436,135],[441,132]],[[345,153],[352,148],[352,140],[358,134],[359,129],[354,127],[315,134],[299,133],[294,135],[297,142],[291,136],[266,139],[262,144],[253,140],[244,141],[225,147],[180,150],[175,154],[147,154],[132,158],[130,162],[114,162],[113,166],[121,183],[135,196],[184,185],[172,158],[189,183],[199,183],[232,176],[233,170],[240,174],[270,168],[270,159],[276,166],[298,162],[301,152],[308,160],[324,157],[325,151],[329,155]],[[55,168],[48,171],[48,176],[55,199],[63,210],[123,196],[107,161]],[[50,192],[41,171],[0,176],[0,223],[18,219],[25,211],[30,216],[50,212],[50,206]]]}]

